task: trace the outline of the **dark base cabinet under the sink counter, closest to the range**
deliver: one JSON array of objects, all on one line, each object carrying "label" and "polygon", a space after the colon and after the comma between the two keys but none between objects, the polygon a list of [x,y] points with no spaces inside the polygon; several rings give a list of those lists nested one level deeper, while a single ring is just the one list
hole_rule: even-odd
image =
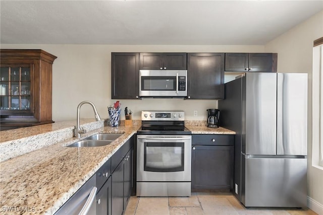
[{"label": "dark base cabinet under the sink counter, closest to the range", "polygon": [[112,169],[112,214],[123,214],[133,187],[133,137],[113,155]]}]

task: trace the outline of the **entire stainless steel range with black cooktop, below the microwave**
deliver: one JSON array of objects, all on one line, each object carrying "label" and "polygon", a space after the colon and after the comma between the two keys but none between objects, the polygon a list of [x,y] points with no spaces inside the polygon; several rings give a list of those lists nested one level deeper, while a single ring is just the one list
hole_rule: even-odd
[{"label": "entire stainless steel range with black cooktop, below the microwave", "polygon": [[190,196],[192,135],[183,111],[142,111],[137,196]]}]

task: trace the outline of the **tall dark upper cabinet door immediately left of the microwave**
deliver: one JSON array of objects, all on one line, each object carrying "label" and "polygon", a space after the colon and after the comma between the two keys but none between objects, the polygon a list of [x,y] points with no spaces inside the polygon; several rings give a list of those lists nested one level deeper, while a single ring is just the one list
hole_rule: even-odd
[{"label": "tall dark upper cabinet door immediately left of the microwave", "polygon": [[139,98],[139,53],[111,53],[111,98]]}]

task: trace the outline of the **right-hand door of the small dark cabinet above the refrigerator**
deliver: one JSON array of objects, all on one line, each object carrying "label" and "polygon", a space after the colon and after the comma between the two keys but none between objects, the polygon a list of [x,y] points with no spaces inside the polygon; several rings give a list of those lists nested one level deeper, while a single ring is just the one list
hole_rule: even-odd
[{"label": "right-hand door of the small dark cabinet above the refrigerator", "polygon": [[272,71],[273,70],[272,53],[250,53],[249,71]]}]

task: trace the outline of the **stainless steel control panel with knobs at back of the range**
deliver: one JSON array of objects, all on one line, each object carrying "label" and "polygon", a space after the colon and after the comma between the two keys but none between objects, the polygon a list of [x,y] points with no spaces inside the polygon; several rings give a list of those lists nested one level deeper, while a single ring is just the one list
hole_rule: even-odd
[{"label": "stainless steel control panel with knobs at back of the range", "polygon": [[141,111],[143,121],[184,121],[184,111]]}]

